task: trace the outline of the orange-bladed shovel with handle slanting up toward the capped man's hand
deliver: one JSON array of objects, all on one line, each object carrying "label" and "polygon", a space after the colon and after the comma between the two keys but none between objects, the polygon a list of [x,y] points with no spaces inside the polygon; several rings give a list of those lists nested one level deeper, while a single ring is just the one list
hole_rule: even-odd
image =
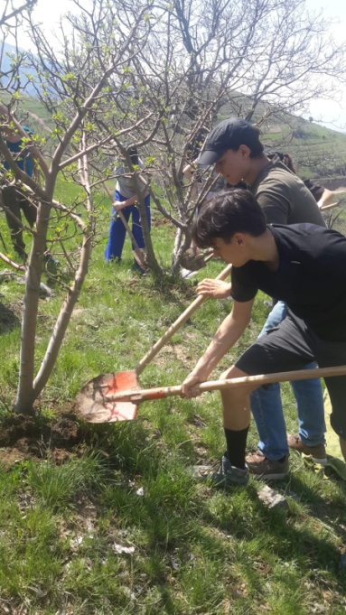
[{"label": "orange-bladed shovel with handle slanting up toward the capped man's hand", "polygon": [[[232,266],[228,265],[215,279],[224,280],[230,274],[231,268]],[[163,337],[154,343],[154,346],[146,353],[145,357],[137,363],[135,369],[128,369],[112,374],[101,374],[90,380],[77,396],[79,414],[89,421],[89,423],[111,423],[116,421],[129,421],[136,418],[136,405],[128,403],[123,404],[122,402],[117,403],[117,410],[110,414],[107,413],[106,418],[103,400],[106,399],[108,395],[130,388],[138,388],[138,376],[142,373],[145,366],[154,359],[159,350],[163,348],[164,344],[173,337],[175,331],[190,318],[192,313],[200,307],[201,303],[203,303],[206,298],[206,296],[198,296],[192,304],[182,312],[179,318],[173,322],[170,328],[164,333]],[[94,409],[91,413],[89,412],[90,400],[94,400]]]}]

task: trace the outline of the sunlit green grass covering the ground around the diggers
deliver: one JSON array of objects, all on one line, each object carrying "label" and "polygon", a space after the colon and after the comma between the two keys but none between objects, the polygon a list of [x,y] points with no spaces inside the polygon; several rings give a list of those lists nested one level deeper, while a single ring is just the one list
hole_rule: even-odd
[{"label": "sunlit green grass covering the ground around the diggers", "polygon": [[[65,199],[70,187],[60,188]],[[106,208],[106,209],[105,209]],[[42,416],[59,415],[90,377],[134,368],[154,340],[192,301],[193,284],[220,272],[220,262],[187,284],[158,286],[132,268],[128,241],[122,265],[103,251],[108,204],[99,208],[99,243],[51,380]],[[8,242],[3,219],[0,229]],[[154,222],[160,258],[169,260],[173,233]],[[4,269],[4,267],[3,267]],[[2,280],[3,278],[0,278]],[[20,317],[23,286],[0,286],[5,308]],[[38,353],[61,303],[55,289],[40,303]],[[216,375],[256,339],[269,307],[257,298],[244,339]],[[182,381],[205,348],[229,302],[206,302],[140,377],[145,387]],[[1,415],[8,415],[18,371],[19,321],[0,335]],[[285,385],[287,428],[295,405]],[[18,461],[0,467],[0,612],[53,615],[310,615],[345,611],[346,573],[339,568],[346,526],[346,488],[323,480],[291,457],[276,485],[287,513],[268,511],[262,486],[229,493],[196,485],[191,467],[223,452],[218,394],[173,397],[140,406],[136,421],[82,425],[83,456],[56,466]],[[251,426],[249,445],[257,437]],[[117,553],[135,547],[133,553]]]}]

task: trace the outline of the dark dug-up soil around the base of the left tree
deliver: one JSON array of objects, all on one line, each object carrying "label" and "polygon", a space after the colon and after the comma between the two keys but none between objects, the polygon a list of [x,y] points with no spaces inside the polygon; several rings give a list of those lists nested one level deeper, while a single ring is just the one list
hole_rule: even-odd
[{"label": "dark dug-up soil around the base of the left tree", "polygon": [[56,422],[28,415],[5,418],[0,429],[0,461],[6,465],[25,459],[66,461],[85,450],[85,439],[77,415],[65,412]]}]

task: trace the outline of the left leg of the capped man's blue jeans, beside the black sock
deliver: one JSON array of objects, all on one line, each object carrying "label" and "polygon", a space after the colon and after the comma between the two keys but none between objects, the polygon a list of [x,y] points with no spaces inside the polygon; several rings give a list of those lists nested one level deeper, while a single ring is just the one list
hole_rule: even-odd
[{"label": "left leg of the capped man's blue jeans, beside the black sock", "polygon": [[[285,319],[286,305],[278,301],[267,317],[258,337],[266,335]],[[251,412],[259,435],[258,448],[268,459],[281,459],[288,454],[284,410],[281,403],[280,385],[259,387],[250,396]]]}]

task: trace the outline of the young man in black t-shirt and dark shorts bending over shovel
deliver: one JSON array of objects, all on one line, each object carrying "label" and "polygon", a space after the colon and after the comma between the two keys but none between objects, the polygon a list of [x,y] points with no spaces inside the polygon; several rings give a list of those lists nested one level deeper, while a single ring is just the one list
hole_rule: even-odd
[{"label": "young man in black t-shirt and dark shorts bending over shovel", "polygon": [[[285,321],[258,339],[222,378],[346,364],[346,238],[313,224],[267,225],[248,191],[211,198],[199,214],[192,236],[199,247],[231,263],[233,309],[182,385],[195,396],[220,359],[248,326],[258,290],[283,300]],[[332,401],[332,428],[346,460],[346,376],[325,378]],[[203,471],[218,486],[246,484],[245,450],[250,422],[249,394],[256,386],[222,391],[227,443],[218,470]],[[313,408],[312,408],[313,413]]]}]

